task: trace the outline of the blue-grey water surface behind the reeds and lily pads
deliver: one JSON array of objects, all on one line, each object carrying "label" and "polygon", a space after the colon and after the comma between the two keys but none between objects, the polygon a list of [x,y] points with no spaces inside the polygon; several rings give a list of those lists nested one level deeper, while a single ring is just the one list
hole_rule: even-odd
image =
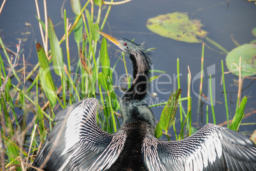
[{"label": "blue-grey water surface behind the reeds and lily pads", "polygon": [[[82,1],[82,6],[85,1]],[[44,20],[43,14],[43,3],[39,2],[41,18]],[[55,32],[57,37],[60,39],[64,33],[64,24],[60,16],[60,8],[62,1],[47,1],[48,16],[52,19],[55,25]],[[64,5],[67,10],[67,17],[72,18],[73,11],[70,7],[70,2],[67,1]],[[103,10],[103,11],[106,11]],[[238,41],[239,44],[250,43],[253,39],[251,31],[256,27],[256,5],[248,3],[247,1],[234,0],[230,4],[227,1],[131,1],[127,4],[119,6],[112,6],[111,12],[108,18],[108,22],[104,27],[104,32],[112,34],[116,38],[127,38],[134,39],[136,43],[142,43],[146,41],[148,48],[156,48],[152,52],[153,58],[153,69],[160,69],[166,71],[166,74],[162,75],[159,82],[167,84],[153,84],[151,93],[157,93],[157,97],[150,97],[153,102],[160,102],[161,100],[167,100],[170,92],[177,87],[176,84],[176,58],[180,58],[180,73],[181,73],[181,88],[182,97],[187,96],[187,66],[189,65],[192,74],[192,80],[200,72],[201,64],[201,43],[183,43],[174,41],[173,39],[163,38],[157,34],[153,34],[146,28],[146,21],[148,18],[155,17],[160,14],[173,13],[175,11],[187,12],[188,16],[192,19],[199,19],[205,25],[203,29],[208,31],[208,37],[221,44],[227,50],[232,50],[236,47],[233,43],[231,35]],[[104,14],[104,13],[103,13]],[[15,1],[15,3],[7,1],[4,9],[0,15],[0,30],[1,38],[4,44],[13,51],[16,51],[15,44],[18,43],[17,38],[27,38],[22,43],[24,48],[24,55],[27,60],[28,69],[31,70],[29,64],[34,65],[38,62],[36,55],[36,48],[34,46],[34,40],[41,43],[41,36],[39,33],[38,22],[34,17],[36,15],[36,6],[34,1]],[[97,13],[95,13],[97,15]],[[74,20],[71,20],[73,22]],[[31,27],[25,27],[25,22],[29,22]],[[22,32],[31,32],[28,36],[22,35]],[[76,43],[73,41],[73,36],[70,37],[69,46],[71,47],[71,60],[73,65],[78,60]],[[215,100],[220,103],[215,104],[215,114],[217,117],[217,124],[222,123],[226,120],[225,106],[224,106],[224,95],[222,94],[223,88],[220,85],[221,80],[221,60],[225,62],[225,54],[218,53],[217,48],[205,41],[210,48],[206,47],[204,51],[204,82],[203,82],[203,93],[208,94],[208,78],[207,67],[213,66],[213,78],[215,79]],[[64,44],[63,44],[64,45]],[[111,46],[111,66],[113,66],[117,60],[117,54]],[[211,48],[215,49],[212,50]],[[64,51],[64,57],[66,56]],[[3,50],[0,50],[2,57]],[[120,54],[118,54],[120,55]],[[129,60],[127,58],[127,60]],[[22,65],[22,61],[19,61]],[[131,65],[128,64],[129,73],[131,73]],[[20,66],[21,68],[22,66]],[[18,69],[18,67],[17,67]],[[227,67],[224,68],[227,71]],[[118,63],[117,74],[120,76],[125,73],[124,64]],[[238,92],[238,86],[235,81],[238,77],[233,74],[225,75],[225,81],[227,86],[227,97],[229,105],[230,118],[234,116],[236,108],[236,92]],[[171,83],[170,83],[171,81]],[[169,83],[168,83],[169,82]],[[248,96],[248,102],[246,104],[245,114],[255,112],[256,106],[256,83],[252,84],[251,79],[245,79],[243,82],[242,96]],[[29,83],[27,83],[29,85]],[[250,85],[250,86],[249,86]],[[201,116],[197,114],[197,97],[196,93],[199,92],[199,79],[195,79],[192,82],[194,91],[192,91],[192,122],[201,123]],[[248,87],[249,86],[249,87]],[[120,92],[117,92],[121,95]],[[183,107],[187,111],[187,104],[183,102]],[[160,117],[160,113],[163,107],[154,107],[153,112],[157,119]],[[203,124],[205,123],[205,109],[206,104],[203,105]],[[209,106],[209,121],[212,123],[211,107]],[[179,116],[177,115],[177,120]],[[255,113],[243,120],[243,123],[255,123]],[[178,126],[179,127],[179,126]],[[256,129],[255,125],[241,126],[241,131],[252,132]]]}]

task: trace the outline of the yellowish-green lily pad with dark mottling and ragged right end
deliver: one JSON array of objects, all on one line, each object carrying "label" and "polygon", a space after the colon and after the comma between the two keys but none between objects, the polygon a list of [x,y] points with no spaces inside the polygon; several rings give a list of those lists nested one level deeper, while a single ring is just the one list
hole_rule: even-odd
[{"label": "yellowish-green lily pad with dark mottling and ragged right end", "polygon": [[205,38],[208,34],[199,20],[190,20],[187,13],[180,12],[149,18],[146,27],[160,36],[187,43],[200,43],[197,36]]}]

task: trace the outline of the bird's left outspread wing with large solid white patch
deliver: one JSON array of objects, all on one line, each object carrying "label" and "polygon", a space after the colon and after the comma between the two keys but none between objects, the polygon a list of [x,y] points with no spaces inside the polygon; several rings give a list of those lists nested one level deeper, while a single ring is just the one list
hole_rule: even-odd
[{"label": "bird's left outspread wing with large solid white patch", "polygon": [[[126,135],[97,126],[97,99],[85,99],[55,117],[57,124],[34,160],[43,170],[105,170],[117,160]],[[34,170],[31,168],[30,170]]]}]

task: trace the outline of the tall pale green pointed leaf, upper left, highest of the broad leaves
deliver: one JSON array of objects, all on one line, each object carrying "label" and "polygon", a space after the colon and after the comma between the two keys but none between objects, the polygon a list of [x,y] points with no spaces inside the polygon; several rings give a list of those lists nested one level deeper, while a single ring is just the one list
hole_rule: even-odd
[{"label": "tall pale green pointed leaf, upper left, highest of the broad leaves", "polygon": [[50,39],[50,47],[52,51],[52,62],[53,68],[57,75],[62,77],[63,71],[63,58],[62,52],[60,49],[60,44],[55,34],[52,20],[48,17],[48,27],[49,27],[49,39]]}]

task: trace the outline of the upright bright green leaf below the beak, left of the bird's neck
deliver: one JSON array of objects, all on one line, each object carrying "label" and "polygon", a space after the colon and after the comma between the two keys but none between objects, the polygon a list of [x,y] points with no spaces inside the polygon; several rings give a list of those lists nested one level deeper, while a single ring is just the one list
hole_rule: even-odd
[{"label": "upright bright green leaf below the beak, left of the bird's neck", "polygon": [[110,76],[110,58],[108,57],[108,47],[106,38],[103,38],[102,40],[100,54],[102,71],[104,76],[108,78]]}]

